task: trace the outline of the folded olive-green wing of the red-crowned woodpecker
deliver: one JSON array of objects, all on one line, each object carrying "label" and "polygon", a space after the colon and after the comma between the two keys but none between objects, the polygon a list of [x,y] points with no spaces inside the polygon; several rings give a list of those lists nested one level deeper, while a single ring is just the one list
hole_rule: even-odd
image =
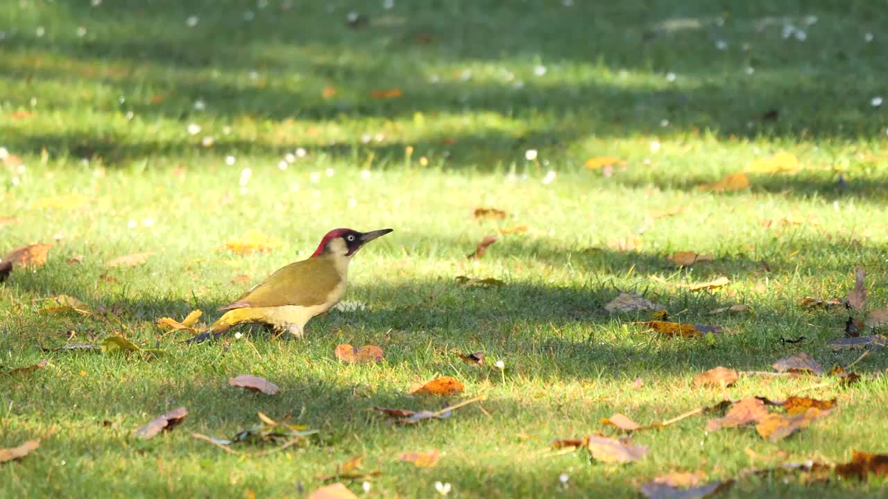
[{"label": "folded olive-green wing of the red-crowned woodpecker", "polygon": [[333,262],[324,257],[308,258],[278,269],[266,281],[250,289],[233,303],[219,307],[219,310],[321,305],[339,282]]}]

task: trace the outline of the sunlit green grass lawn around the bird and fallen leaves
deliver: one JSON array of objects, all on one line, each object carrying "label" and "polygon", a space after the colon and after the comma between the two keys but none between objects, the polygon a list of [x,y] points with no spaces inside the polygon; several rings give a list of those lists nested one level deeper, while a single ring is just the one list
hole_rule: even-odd
[{"label": "sunlit green grass lawn around the bird and fallen leaves", "polygon": [[[632,497],[670,471],[730,479],[888,451],[884,377],[692,383],[797,352],[826,368],[857,359],[826,347],[848,312],[801,305],[846,297],[855,266],[868,272],[868,308],[888,305],[884,5],[23,0],[0,3],[0,19],[0,252],[54,243],[46,265],[0,285],[0,368],[49,360],[0,376],[0,448],[41,440],[0,464],[4,497],[303,497],[354,455],[383,472],[369,492],[345,480],[359,496],[442,497],[440,481],[450,497]],[[698,188],[780,152],[802,168]],[[586,167],[602,156],[620,162]],[[475,219],[479,207],[507,216]],[[184,345],[189,334],[155,325],[195,309],[215,320],[339,226],[395,230],[353,261],[345,299],[364,308],[316,318],[300,341],[239,327]],[[515,226],[527,231],[497,232]],[[278,244],[226,249],[251,230]],[[487,235],[500,240],[467,260]],[[680,269],[666,258],[678,250],[714,259]],[[145,252],[141,265],[106,265]],[[505,285],[463,287],[459,275]],[[683,287],[722,276],[719,289]],[[728,332],[658,335],[633,324],[649,313],[604,310],[619,290]],[[99,315],[38,313],[61,294]],[[749,312],[710,314],[734,304]],[[115,332],[164,352],[59,350]],[[380,345],[385,360],[343,364],[341,343]],[[475,351],[503,360],[502,373],[456,356]],[[883,371],[888,357],[854,368]],[[248,373],[281,392],[228,386]],[[409,394],[434,376],[465,392]],[[649,424],[794,393],[836,398],[836,410],[776,443],[689,417],[635,434],[649,448],[638,463],[549,449],[620,434],[599,423],[614,413]],[[371,410],[478,395],[488,399],[410,427]],[[180,406],[189,416],[175,430],[132,436]],[[257,411],[319,437],[261,457],[190,437],[230,436]],[[432,449],[432,468],[398,460]],[[764,476],[719,496],[863,497],[886,485]]]}]

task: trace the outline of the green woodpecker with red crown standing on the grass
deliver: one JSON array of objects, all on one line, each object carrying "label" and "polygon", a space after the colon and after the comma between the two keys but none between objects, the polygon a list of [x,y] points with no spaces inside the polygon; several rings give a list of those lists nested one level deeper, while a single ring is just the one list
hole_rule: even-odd
[{"label": "green woodpecker with red crown standing on the grass", "polygon": [[[278,331],[301,337],[305,323],[327,312],[345,295],[348,263],[364,244],[392,229],[360,233],[352,229],[333,229],[321,239],[311,257],[289,264],[234,302],[219,307],[226,310],[210,326],[218,336],[235,324],[261,322]],[[205,339],[209,334],[200,335]],[[194,340],[200,341],[198,337]]]}]

